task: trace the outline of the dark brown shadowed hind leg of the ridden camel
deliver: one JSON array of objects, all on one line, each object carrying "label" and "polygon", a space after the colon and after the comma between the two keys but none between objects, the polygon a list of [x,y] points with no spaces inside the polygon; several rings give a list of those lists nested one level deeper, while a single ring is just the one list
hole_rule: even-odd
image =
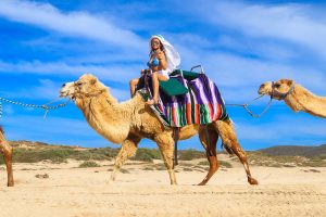
[{"label": "dark brown shadowed hind leg of the ridden camel", "polygon": [[[206,151],[206,157],[210,163],[210,169],[208,171],[208,175],[205,178],[198,184],[198,186],[204,186],[208,183],[208,181],[212,178],[212,176],[217,171],[220,165],[217,161],[216,155],[216,143],[218,140],[218,135],[215,131],[215,129],[212,129],[212,126],[208,126],[208,129],[205,127],[200,127],[199,129],[199,139],[201,144]],[[208,141],[209,139],[209,141]]]}]

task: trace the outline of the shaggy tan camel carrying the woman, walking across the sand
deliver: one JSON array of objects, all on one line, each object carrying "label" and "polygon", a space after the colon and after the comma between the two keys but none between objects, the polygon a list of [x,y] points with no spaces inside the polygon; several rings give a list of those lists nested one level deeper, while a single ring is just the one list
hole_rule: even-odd
[{"label": "shaggy tan camel carrying the woman, walking across the sand", "polygon": [[[71,98],[76,106],[82,110],[88,124],[103,138],[122,148],[115,158],[114,169],[109,183],[114,182],[116,174],[128,157],[135,155],[138,143],[142,138],[156,142],[164,164],[170,175],[171,184],[177,184],[174,173],[174,139],[173,129],[164,128],[159,118],[146,104],[139,92],[128,101],[117,102],[109,89],[91,74],[83,75],[77,81],[66,82],[60,90],[60,97]],[[210,142],[204,137],[204,127],[199,125],[187,125],[180,128],[179,139],[185,140],[199,133],[200,141],[206,151],[210,169],[205,178],[199,183],[205,184],[218,169],[216,157],[216,142],[218,135],[222,137],[226,150],[234,152],[242,163],[248,182],[258,184],[252,178],[247,154],[241,149],[231,122],[216,120],[208,126]]]}]

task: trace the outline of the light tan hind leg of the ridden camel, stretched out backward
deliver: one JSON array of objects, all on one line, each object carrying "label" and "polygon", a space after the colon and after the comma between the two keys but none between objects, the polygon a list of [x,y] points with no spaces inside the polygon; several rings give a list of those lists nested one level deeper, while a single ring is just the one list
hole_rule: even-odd
[{"label": "light tan hind leg of the ridden camel, stretched out backward", "polygon": [[258,184],[258,181],[251,176],[247,161],[247,154],[238,142],[231,122],[217,120],[214,123],[214,125],[222,138],[222,143],[231,150],[231,152],[235,153],[242,163],[247,174],[248,182],[250,184]]}]

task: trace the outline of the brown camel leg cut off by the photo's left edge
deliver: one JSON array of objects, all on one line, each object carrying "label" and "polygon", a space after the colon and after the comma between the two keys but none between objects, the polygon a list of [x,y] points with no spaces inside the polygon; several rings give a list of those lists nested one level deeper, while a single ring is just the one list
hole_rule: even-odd
[{"label": "brown camel leg cut off by the photo's left edge", "polygon": [[13,173],[12,173],[12,148],[9,145],[8,141],[4,138],[4,132],[0,126],[0,153],[3,155],[7,173],[8,173],[8,187],[14,186]]}]

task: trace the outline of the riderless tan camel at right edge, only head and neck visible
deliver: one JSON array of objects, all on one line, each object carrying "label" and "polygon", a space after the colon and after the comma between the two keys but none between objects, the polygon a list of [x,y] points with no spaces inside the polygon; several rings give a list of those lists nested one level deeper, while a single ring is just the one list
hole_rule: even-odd
[{"label": "riderless tan camel at right edge, only head and neck visible", "polygon": [[284,100],[293,112],[305,112],[313,116],[326,118],[326,98],[317,97],[301,85],[290,79],[268,81],[261,85],[260,94],[272,95],[273,99]]}]

